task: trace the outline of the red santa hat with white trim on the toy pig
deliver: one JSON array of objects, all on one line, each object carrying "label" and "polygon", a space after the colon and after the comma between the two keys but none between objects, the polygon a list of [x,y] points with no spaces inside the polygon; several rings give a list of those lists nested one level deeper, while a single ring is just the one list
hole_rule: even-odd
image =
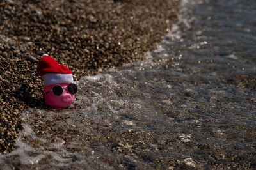
[{"label": "red santa hat with white trim on the toy pig", "polygon": [[59,65],[55,59],[44,54],[37,65],[37,73],[44,79],[44,85],[73,83],[72,72],[67,66]]}]

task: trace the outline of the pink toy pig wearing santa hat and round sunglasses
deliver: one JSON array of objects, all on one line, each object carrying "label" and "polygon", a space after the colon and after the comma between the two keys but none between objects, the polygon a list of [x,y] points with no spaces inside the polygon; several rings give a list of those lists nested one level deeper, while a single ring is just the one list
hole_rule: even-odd
[{"label": "pink toy pig wearing santa hat and round sunglasses", "polygon": [[44,78],[43,99],[46,105],[63,108],[72,105],[77,86],[67,66],[59,65],[44,54],[37,65],[38,75]]}]

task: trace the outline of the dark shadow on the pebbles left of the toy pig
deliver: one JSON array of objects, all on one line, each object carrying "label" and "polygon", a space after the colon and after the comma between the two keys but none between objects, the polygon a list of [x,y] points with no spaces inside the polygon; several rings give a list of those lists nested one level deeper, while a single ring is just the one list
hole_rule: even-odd
[{"label": "dark shadow on the pebbles left of the toy pig", "polygon": [[44,107],[42,98],[32,97],[31,92],[29,92],[28,86],[26,86],[26,84],[22,84],[22,86],[15,92],[14,97],[16,100],[24,102],[29,107]]}]

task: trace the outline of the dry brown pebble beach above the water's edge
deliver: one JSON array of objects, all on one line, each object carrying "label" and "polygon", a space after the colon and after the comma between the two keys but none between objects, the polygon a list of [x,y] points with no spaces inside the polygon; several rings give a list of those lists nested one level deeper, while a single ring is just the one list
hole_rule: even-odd
[{"label": "dry brown pebble beach above the water's edge", "polygon": [[42,54],[68,66],[75,80],[145,59],[178,19],[180,1],[161,3],[1,3],[0,153],[15,149],[20,112],[42,105],[43,83],[36,74]]}]

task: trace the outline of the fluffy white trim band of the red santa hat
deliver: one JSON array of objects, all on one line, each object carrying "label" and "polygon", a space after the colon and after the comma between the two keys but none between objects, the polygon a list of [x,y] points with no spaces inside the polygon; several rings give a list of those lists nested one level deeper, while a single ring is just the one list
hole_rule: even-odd
[{"label": "fluffy white trim band of the red santa hat", "polygon": [[44,78],[45,86],[60,83],[74,83],[72,74],[47,73],[42,77]]}]

